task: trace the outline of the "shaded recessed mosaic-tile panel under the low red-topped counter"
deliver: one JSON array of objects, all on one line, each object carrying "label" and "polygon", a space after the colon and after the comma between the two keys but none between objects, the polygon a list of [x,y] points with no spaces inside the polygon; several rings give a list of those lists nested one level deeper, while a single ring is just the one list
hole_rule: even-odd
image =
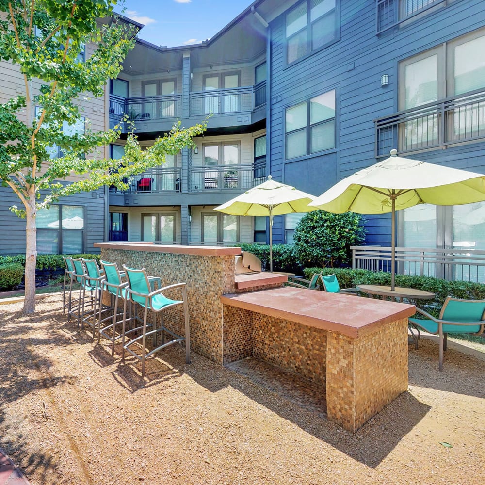
[{"label": "shaded recessed mosaic-tile panel under the low red-topped counter", "polygon": [[325,386],[326,331],[253,313],[256,358]]}]

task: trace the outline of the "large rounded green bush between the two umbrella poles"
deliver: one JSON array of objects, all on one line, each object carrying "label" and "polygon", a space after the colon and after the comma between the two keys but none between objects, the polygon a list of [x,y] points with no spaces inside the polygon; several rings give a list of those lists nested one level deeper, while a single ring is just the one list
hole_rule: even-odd
[{"label": "large rounded green bush between the two umbrella poles", "polygon": [[339,267],[352,260],[350,246],[365,239],[364,218],[354,212],[308,212],[295,229],[296,256],[304,266]]}]

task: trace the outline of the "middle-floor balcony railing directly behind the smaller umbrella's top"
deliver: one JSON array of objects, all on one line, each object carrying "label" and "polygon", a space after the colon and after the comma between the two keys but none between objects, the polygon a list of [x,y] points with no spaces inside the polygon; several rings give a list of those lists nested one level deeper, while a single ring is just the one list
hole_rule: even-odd
[{"label": "middle-floor balcony railing directly behind the smaller umbrella's top", "polygon": [[213,165],[192,167],[190,191],[204,192],[227,189],[250,189],[264,177],[254,178],[253,165]]}]

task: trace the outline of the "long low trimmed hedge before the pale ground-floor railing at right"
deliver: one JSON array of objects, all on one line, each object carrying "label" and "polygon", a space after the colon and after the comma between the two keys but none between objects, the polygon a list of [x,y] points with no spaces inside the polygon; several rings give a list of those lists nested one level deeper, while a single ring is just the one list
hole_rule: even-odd
[{"label": "long low trimmed hedge before the pale ground-floor railing at right", "polygon": [[[391,274],[383,271],[353,270],[348,268],[305,268],[306,278],[313,273],[335,274],[340,288],[355,288],[357,285],[390,285]],[[465,300],[485,300],[485,285],[471,281],[448,281],[431,276],[396,275],[396,286],[431,291],[436,294],[434,303],[441,307],[447,296]],[[428,301],[417,300],[417,305],[428,305]]]}]

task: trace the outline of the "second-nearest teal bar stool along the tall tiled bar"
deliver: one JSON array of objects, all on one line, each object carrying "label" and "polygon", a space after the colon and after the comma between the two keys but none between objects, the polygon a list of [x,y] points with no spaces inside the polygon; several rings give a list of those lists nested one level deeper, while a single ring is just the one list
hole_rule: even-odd
[{"label": "second-nearest teal bar stool along the tall tiled bar", "polygon": [[[113,356],[114,343],[117,339],[121,338],[121,333],[116,335],[116,325],[121,326],[123,323],[123,310],[121,306],[118,310],[118,305],[120,300],[124,302],[128,298],[128,281],[123,281],[125,273],[120,273],[116,263],[101,260],[100,264],[104,274],[104,279],[101,284],[101,294],[99,295],[100,305],[97,319],[97,343],[99,343],[101,335],[110,340],[111,355]],[[103,307],[105,295],[109,295],[111,303],[110,305]],[[103,317],[103,311],[105,314],[108,313],[108,316]]]}]

